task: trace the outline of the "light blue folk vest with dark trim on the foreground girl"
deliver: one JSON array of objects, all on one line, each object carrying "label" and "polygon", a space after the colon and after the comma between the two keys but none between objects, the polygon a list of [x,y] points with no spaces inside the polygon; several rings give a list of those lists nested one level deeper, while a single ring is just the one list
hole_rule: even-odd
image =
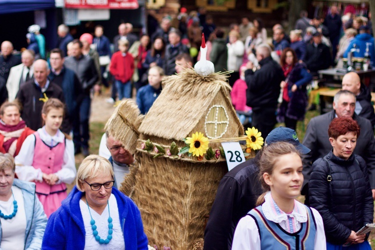
[{"label": "light blue folk vest with dark trim on the foreground girl", "polygon": [[307,221],[301,223],[301,228],[289,233],[271,220],[265,218],[261,206],[257,206],[247,213],[258,227],[260,248],[262,250],[313,250],[316,234],[315,218],[311,209],[305,206]]}]

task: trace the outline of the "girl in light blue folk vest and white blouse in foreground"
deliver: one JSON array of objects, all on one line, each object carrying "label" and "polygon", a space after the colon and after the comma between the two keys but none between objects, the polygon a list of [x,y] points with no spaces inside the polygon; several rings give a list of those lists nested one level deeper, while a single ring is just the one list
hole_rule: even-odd
[{"label": "girl in light blue folk vest and white blouse in foreground", "polygon": [[267,191],[259,196],[258,206],[239,220],[232,249],[325,250],[320,214],[294,199],[303,183],[297,149],[287,142],[275,142],[260,153],[259,179]]}]

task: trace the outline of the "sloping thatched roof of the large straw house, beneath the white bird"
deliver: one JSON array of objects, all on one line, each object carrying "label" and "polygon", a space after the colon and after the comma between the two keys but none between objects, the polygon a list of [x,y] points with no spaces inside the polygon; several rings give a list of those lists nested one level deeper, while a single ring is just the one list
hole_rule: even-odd
[{"label": "sloping thatched roof of the large straw house, beneath the white bird", "polygon": [[[166,76],[163,78],[163,89],[146,113],[139,132],[181,140],[204,118],[219,91],[223,93],[224,101],[232,106],[230,89],[222,73],[201,76],[188,68],[179,74]],[[241,126],[238,119],[235,122],[236,126]]]}]

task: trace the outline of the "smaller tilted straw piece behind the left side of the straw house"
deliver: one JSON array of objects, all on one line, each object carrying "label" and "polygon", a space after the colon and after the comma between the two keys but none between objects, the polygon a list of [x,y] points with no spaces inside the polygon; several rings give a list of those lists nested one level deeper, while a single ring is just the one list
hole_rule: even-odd
[{"label": "smaller tilted straw piece behind the left side of the straw house", "polygon": [[124,147],[134,154],[136,140],[139,137],[138,127],[142,122],[144,115],[140,114],[136,103],[127,99],[122,101],[105,124],[104,129],[109,135],[120,140]]}]

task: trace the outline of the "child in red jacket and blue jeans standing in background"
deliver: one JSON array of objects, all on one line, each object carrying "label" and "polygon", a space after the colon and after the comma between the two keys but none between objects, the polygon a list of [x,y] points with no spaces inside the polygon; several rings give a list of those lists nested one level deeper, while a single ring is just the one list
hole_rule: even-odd
[{"label": "child in red jacket and blue jeans standing in background", "polygon": [[112,55],[109,71],[114,76],[114,84],[118,90],[118,99],[131,98],[131,76],[134,73],[134,58],[127,52],[129,42],[118,41],[119,51]]}]

